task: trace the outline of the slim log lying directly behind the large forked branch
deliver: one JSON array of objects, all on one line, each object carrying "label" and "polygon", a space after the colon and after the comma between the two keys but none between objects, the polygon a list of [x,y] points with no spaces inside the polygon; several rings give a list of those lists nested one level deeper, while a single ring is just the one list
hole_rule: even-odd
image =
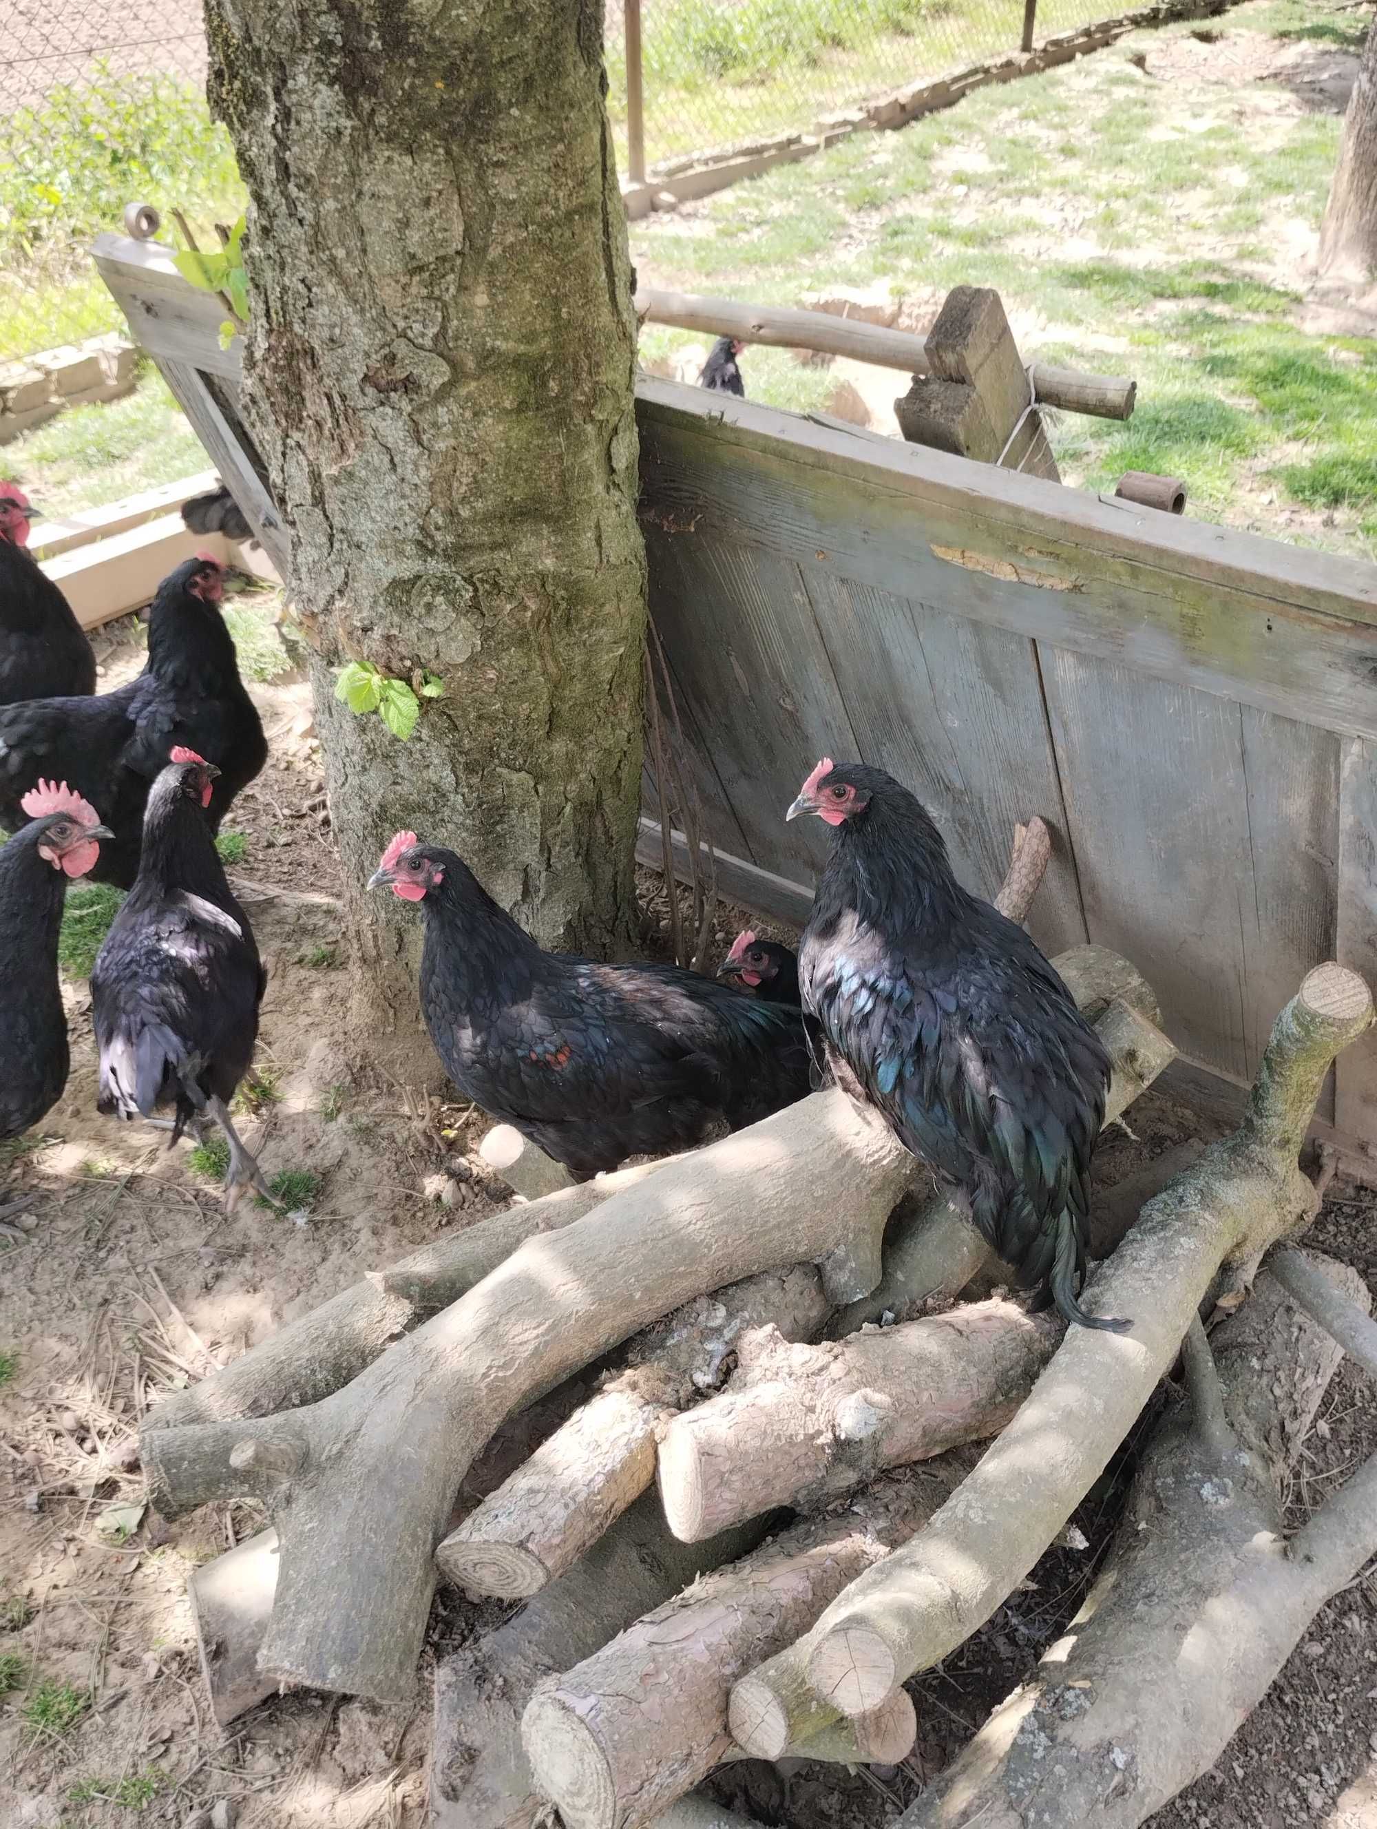
[{"label": "slim log lying directly behind the large forked branch", "polygon": [[545,1200],[494,1213],[446,1233],[384,1271],[371,1271],[320,1308],[285,1322],[247,1353],[188,1390],[165,1397],[143,1430],[271,1416],[318,1403],[358,1377],[384,1348],[457,1302],[474,1284],[541,1233],[572,1225],[616,1193],[638,1187],[660,1163],[618,1169]]}]

